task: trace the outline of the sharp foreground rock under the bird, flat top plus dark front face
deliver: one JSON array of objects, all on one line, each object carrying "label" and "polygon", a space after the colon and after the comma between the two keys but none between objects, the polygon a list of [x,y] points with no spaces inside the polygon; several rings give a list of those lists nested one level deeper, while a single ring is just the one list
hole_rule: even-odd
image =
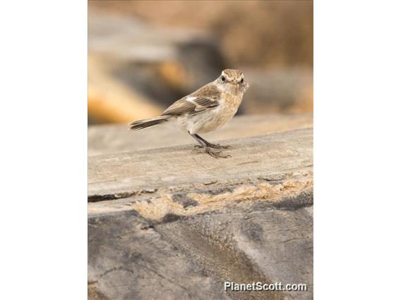
[{"label": "sharp foreground rock under the bird, flat top plus dark front face", "polygon": [[90,299],[312,299],[312,129],[220,144],[232,158],[193,145],[90,156]]}]

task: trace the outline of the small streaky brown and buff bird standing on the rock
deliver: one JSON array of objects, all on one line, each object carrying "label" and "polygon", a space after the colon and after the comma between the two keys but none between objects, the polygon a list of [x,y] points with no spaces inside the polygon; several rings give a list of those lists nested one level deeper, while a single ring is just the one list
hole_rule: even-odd
[{"label": "small streaky brown and buff bird standing on the rock", "polygon": [[200,144],[206,154],[214,158],[229,158],[221,151],[229,146],[213,144],[200,133],[211,132],[223,127],[237,113],[249,83],[240,70],[226,69],[213,82],[200,87],[195,92],[175,101],[161,115],[146,120],[136,120],[129,125],[131,130],[142,130],[166,122],[173,122],[188,132]]}]

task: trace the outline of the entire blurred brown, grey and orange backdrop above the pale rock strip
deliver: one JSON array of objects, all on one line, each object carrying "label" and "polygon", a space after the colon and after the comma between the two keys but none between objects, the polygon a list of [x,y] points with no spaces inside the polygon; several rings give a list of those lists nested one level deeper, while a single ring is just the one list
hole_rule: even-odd
[{"label": "entire blurred brown, grey and orange backdrop above the pale rock strip", "polygon": [[313,111],[313,1],[88,1],[88,123],[150,118],[225,68],[239,114]]}]

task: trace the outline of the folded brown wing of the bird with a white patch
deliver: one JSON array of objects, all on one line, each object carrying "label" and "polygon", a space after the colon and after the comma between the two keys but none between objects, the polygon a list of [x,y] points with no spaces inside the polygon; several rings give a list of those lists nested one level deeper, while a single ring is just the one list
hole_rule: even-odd
[{"label": "folded brown wing of the bird with a white patch", "polygon": [[179,99],[167,108],[162,115],[183,115],[208,111],[219,106],[220,91],[207,85],[192,94]]}]

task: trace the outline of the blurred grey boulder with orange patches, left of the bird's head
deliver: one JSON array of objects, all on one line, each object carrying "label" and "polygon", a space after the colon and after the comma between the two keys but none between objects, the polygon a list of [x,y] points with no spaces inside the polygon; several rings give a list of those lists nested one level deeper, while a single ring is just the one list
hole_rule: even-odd
[{"label": "blurred grey boulder with orange patches, left of the bird's head", "polygon": [[205,32],[93,10],[88,20],[89,118],[97,123],[148,118],[224,69],[216,40]]}]

